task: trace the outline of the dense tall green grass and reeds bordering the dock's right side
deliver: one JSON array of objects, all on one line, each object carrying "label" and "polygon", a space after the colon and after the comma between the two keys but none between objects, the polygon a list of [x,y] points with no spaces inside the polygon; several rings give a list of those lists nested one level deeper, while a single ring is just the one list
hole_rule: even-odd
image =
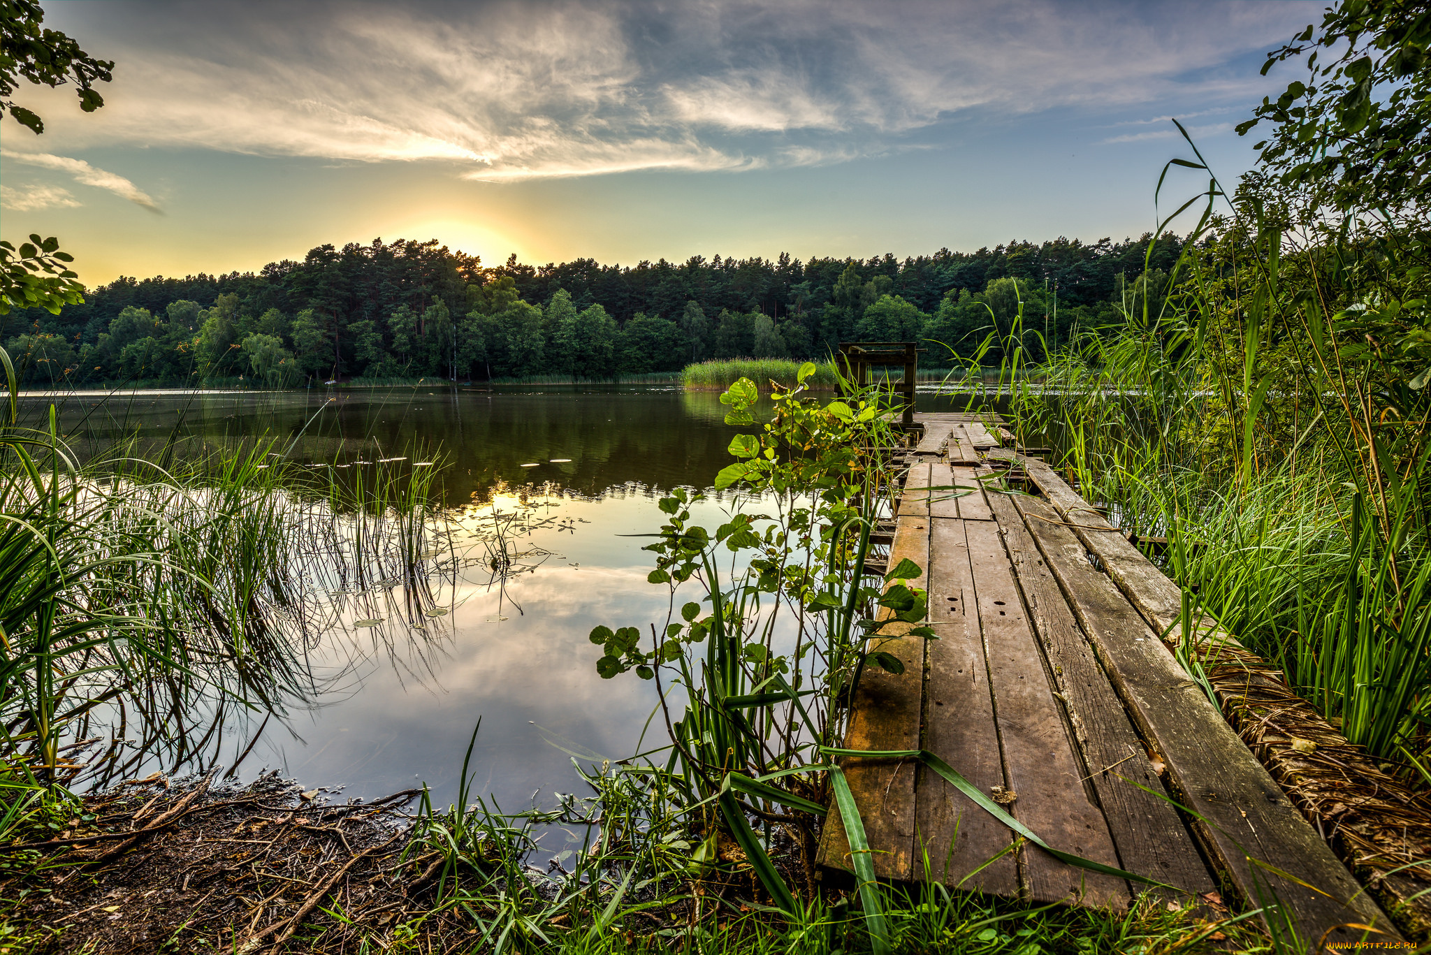
[{"label": "dense tall green grass and reeds bordering the dock's right side", "polygon": [[1394,236],[1291,235],[1209,193],[1162,311],[1142,296],[1055,354],[1046,389],[1015,388],[1019,427],[1166,535],[1168,573],[1348,739],[1431,783],[1431,402],[1367,318],[1420,272]]}]

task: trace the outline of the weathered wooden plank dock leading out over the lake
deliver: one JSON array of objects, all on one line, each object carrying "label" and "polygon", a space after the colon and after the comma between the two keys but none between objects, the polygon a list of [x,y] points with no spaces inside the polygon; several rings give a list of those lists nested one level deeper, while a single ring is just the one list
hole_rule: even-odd
[{"label": "weathered wooden plank dock leading out over the lake", "polygon": [[[1364,925],[1400,939],[1159,639],[1176,584],[1047,465],[1002,448],[997,421],[917,420],[889,564],[924,570],[939,639],[899,623],[873,637],[906,669],[866,667],[846,746],[927,749],[1055,849],[1172,886],[1152,889],[1166,903],[1281,903],[1314,951]],[[1006,826],[916,760],[843,765],[880,878],[1080,905],[1149,891],[1010,850]],[[820,862],[850,868],[834,810]]]}]

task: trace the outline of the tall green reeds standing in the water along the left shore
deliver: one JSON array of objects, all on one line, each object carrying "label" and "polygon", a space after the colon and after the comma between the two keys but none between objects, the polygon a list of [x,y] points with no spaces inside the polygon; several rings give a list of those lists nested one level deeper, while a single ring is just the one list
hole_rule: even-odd
[{"label": "tall green reeds standing in the water along the left shore", "polygon": [[[0,355],[3,358],[3,355]],[[23,785],[212,757],[318,687],[303,653],[402,590],[434,603],[432,467],[301,468],[280,445],[80,462],[57,412],[0,422],[0,759]],[[346,604],[356,604],[348,607]],[[396,619],[402,619],[402,613]],[[100,743],[87,765],[66,746]],[[82,750],[74,750],[79,755]]]}]

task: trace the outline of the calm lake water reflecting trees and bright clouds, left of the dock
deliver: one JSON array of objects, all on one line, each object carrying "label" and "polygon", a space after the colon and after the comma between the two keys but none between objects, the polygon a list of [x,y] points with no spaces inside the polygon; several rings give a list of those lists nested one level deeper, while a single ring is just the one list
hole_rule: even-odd
[{"label": "calm lake water reflecting trees and bright clouds, left of the dock", "polygon": [[[29,411],[47,404],[26,401]],[[922,408],[949,407],[922,397]],[[426,782],[456,795],[472,727],[477,792],[505,809],[580,792],[582,762],[637,752],[657,704],[634,674],[602,680],[587,634],[597,624],[664,621],[668,594],[645,580],[655,498],[710,485],[731,458],[734,428],[716,394],[674,388],[562,391],[389,391],[342,394],[70,397],[64,430],[86,447],[126,434],[159,447],[172,434],[222,441],[256,435],[293,444],[301,461],[373,460],[439,448],[449,467],[442,501],[456,543],[481,557],[492,521],[511,530],[519,573],[494,581],[468,561],[444,593],[452,613],[425,634],[329,634],[312,653],[329,689],[312,709],[272,720],[243,776],[278,767],[305,786],[376,798]],[[561,460],[561,461],[554,461]],[[522,467],[522,465],[537,467]],[[723,504],[695,513],[708,527]],[[509,523],[509,524],[508,524]],[[240,727],[235,727],[238,730]],[[236,756],[238,732],[225,749]],[[645,746],[664,742],[650,723]]]}]

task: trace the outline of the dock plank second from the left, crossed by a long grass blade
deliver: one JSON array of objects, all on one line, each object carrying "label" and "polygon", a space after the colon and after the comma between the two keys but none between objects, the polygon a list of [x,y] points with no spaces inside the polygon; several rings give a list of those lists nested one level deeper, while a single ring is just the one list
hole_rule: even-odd
[{"label": "dock plank second from the left, crossed by a long grass blade", "polygon": [[[939,640],[932,640],[927,650],[924,749],[983,792],[990,792],[1006,780],[979,614],[973,607],[973,571],[963,521],[933,521],[930,558],[929,619]],[[1007,849],[1013,839],[1003,823],[929,770],[920,772],[917,820],[930,872],[947,885],[959,885]],[[1016,895],[1019,881],[1013,856],[996,861],[964,885]]]}]

